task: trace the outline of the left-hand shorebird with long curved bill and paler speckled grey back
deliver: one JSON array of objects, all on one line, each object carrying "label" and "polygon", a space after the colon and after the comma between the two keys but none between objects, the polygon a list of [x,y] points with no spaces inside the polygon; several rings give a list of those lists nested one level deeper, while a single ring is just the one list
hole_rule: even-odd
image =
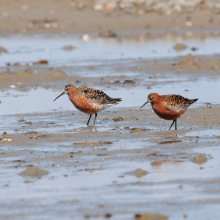
[{"label": "left-hand shorebird with long curved bill and paler speckled grey back", "polygon": [[64,94],[69,96],[69,100],[78,110],[90,115],[87,125],[89,125],[89,121],[93,114],[95,114],[95,120],[93,123],[95,125],[97,112],[113,105],[117,105],[119,104],[118,102],[121,101],[121,98],[111,98],[100,90],[89,88],[87,86],[80,86],[77,88],[72,84],[66,85],[64,92],[56,97],[54,101]]}]

